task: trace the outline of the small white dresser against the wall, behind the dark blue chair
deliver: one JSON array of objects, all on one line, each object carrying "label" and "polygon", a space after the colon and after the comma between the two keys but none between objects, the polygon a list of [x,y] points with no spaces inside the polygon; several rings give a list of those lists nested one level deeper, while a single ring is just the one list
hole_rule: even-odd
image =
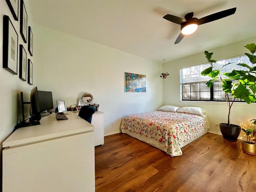
[{"label": "small white dresser against the wall, behind the dark blue chair", "polygon": [[[75,112],[78,115],[79,112]],[[94,146],[104,144],[104,112],[96,111],[92,115],[92,125],[94,126]]]}]

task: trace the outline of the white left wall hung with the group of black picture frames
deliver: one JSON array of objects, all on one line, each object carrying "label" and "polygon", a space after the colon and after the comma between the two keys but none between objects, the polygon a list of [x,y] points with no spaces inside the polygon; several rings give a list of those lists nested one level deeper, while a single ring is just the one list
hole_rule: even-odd
[{"label": "white left wall hung with the group of black picture frames", "polygon": [[[28,26],[33,29],[33,23],[30,16],[30,8],[28,2],[24,1],[27,14],[28,14]],[[3,17],[8,15],[16,32],[18,34],[18,46],[22,44],[26,50],[27,58],[30,58],[33,62],[33,57],[28,52],[28,44],[24,43],[20,35],[20,18],[18,21],[14,20],[12,13],[5,0],[0,0],[0,154],[2,154],[2,142],[12,133],[14,126],[20,120],[20,92],[24,92],[24,98],[29,100],[30,89],[32,88],[28,82],[24,82],[19,78],[19,73],[14,75],[2,68],[3,59]],[[20,10],[19,10],[20,16]],[[18,66],[19,66],[19,48],[18,48]],[[18,67],[19,71],[19,67]],[[26,78],[28,79],[28,78]],[[19,115],[18,115],[19,114]],[[0,155],[1,156],[1,155]],[[0,158],[1,159],[1,158]]]}]

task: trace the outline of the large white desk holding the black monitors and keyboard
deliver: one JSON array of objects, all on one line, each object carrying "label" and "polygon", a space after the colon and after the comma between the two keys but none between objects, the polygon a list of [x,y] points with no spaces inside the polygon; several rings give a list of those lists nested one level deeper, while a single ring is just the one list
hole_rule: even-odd
[{"label": "large white desk holding the black monitors and keyboard", "polygon": [[67,117],[43,117],[3,142],[3,192],[94,192],[94,126]]}]

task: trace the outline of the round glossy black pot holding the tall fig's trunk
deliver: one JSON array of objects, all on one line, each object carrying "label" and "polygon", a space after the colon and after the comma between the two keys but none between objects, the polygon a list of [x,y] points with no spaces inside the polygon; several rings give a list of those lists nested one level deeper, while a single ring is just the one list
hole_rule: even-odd
[{"label": "round glossy black pot holding the tall fig's trunk", "polygon": [[220,123],[220,132],[226,140],[237,141],[240,131],[241,127],[239,125]]}]

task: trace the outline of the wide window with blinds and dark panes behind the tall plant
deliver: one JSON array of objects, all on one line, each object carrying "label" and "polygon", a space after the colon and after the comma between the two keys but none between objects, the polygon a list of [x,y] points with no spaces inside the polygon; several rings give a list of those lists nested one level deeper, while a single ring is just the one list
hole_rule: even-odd
[{"label": "wide window with blinds and dark panes behind the tall plant", "polygon": [[[214,63],[214,67],[220,68],[224,64],[228,64],[220,70],[221,74],[223,74],[223,72],[231,72],[234,69],[246,69],[245,67],[237,65],[238,63],[245,63],[252,67],[252,64],[247,56],[239,56],[235,58],[219,60],[217,63]],[[210,63],[180,69],[182,100],[225,101],[225,95],[222,91],[222,85],[220,81],[214,82],[212,88],[208,88],[206,86],[206,82],[211,78],[208,76],[202,76],[201,72],[208,67],[210,67]],[[223,76],[223,78],[227,77]],[[233,97],[230,98],[234,99]],[[242,100],[235,99],[235,101]]]}]

